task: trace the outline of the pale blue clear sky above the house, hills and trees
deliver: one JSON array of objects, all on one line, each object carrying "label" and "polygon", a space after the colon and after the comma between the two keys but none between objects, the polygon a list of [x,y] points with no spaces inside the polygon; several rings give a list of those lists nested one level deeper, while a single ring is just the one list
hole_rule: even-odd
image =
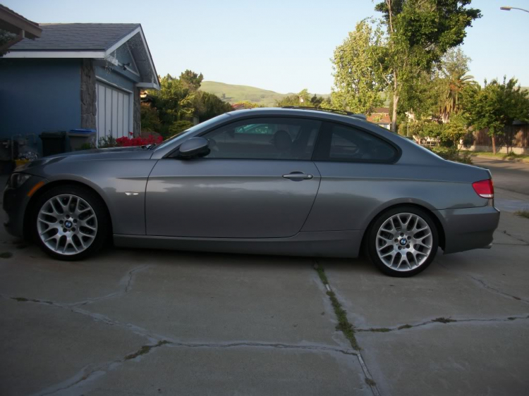
[{"label": "pale blue clear sky above the house, hills and trees", "polygon": [[[378,0],[377,0],[378,2]],[[0,0],[37,23],[141,23],[159,75],[191,69],[205,80],[327,94],[333,51],[371,0]],[[529,86],[529,0],[473,0],[482,18],[462,45],[470,74]]]}]

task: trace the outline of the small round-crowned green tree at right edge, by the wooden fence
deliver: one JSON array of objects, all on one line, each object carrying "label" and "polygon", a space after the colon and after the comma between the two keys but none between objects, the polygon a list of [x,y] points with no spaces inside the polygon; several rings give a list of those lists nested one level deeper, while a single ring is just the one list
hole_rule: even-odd
[{"label": "small round-crowned green tree at right edge, by the wooden fence", "polygon": [[514,120],[529,120],[529,92],[517,85],[518,80],[504,77],[503,83],[492,80],[485,87],[475,85],[463,92],[463,106],[470,124],[480,130],[487,128],[492,139],[492,152],[496,154],[496,137]]}]

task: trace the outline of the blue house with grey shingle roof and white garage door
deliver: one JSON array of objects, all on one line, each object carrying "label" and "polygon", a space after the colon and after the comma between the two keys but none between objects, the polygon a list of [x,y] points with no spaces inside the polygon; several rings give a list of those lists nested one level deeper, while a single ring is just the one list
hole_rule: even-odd
[{"label": "blue house with grey shingle roof and white garage door", "polygon": [[159,89],[138,23],[42,23],[0,58],[0,139],[90,128],[140,134],[140,90]]}]

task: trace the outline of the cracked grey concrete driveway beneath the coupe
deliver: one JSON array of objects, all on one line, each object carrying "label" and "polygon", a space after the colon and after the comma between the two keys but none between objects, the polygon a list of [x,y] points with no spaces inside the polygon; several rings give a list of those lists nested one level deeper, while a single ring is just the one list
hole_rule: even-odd
[{"label": "cracked grey concrete driveway beneath the coupe", "polygon": [[492,249],[408,279],[364,259],[68,263],[0,242],[1,395],[528,394],[529,220],[508,212]]}]

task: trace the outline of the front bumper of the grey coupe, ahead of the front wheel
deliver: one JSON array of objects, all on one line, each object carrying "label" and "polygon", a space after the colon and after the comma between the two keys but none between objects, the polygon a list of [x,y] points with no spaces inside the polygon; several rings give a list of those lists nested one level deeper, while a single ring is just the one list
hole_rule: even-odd
[{"label": "front bumper of the grey coupe, ahead of the front wheel", "polygon": [[4,189],[3,206],[8,216],[8,220],[4,223],[4,228],[15,237],[24,237],[24,216],[31,199],[28,193],[38,182],[47,183],[47,180],[32,175],[18,188],[6,185]]}]

